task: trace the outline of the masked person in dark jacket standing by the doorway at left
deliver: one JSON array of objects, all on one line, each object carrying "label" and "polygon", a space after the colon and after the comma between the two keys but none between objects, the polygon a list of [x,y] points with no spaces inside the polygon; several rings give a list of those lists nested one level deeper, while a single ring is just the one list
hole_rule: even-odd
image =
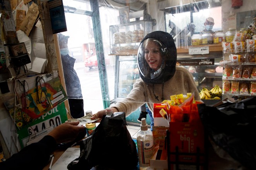
[{"label": "masked person in dark jacket standing by the doorway at left", "polygon": [[70,113],[73,118],[81,118],[84,116],[84,100],[80,80],[74,69],[75,59],[68,54],[68,38],[69,36],[58,34]]}]

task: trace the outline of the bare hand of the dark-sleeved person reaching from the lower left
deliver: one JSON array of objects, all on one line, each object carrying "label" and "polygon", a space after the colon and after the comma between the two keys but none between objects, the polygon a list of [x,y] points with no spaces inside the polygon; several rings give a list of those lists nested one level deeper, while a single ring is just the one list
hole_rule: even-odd
[{"label": "bare hand of the dark-sleeved person reaching from the lower left", "polygon": [[65,122],[57,126],[48,133],[55,138],[56,143],[67,143],[75,140],[80,132],[84,131],[84,126],[79,125],[79,121]]}]

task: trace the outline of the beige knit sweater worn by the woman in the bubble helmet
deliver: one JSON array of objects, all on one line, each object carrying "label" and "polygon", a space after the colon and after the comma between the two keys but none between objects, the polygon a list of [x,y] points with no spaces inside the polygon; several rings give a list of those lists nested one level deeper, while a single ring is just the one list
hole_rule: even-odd
[{"label": "beige knit sweater worn by the woman in the bubble helmet", "polygon": [[[142,104],[147,103],[148,108],[153,113],[154,103],[161,103],[167,99],[170,100],[170,96],[174,94],[187,93],[195,93],[195,99],[200,100],[192,74],[186,68],[176,66],[174,76],[164,82],[164,84],[146,84],[141,78],[137,79],[133,84],[130,94],[122,101],[111,105],[111,107],[118,108],[119,111],[125,112],[126,116],[128,116]],[[155,96],[158,96],[159,100]]]}]

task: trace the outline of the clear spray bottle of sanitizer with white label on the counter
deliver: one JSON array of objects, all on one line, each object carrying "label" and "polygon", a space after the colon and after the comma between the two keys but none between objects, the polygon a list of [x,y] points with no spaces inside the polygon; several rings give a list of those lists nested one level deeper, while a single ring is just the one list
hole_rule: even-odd
[{"label": "clear spray bottle of sanitizer with white label on the counter", "polygon": [[154,153],[153,134],[145,118],[142,118],[140,130],[137,133],[137,145],[140,170],[145,170],[149,167],[149,160]]}]

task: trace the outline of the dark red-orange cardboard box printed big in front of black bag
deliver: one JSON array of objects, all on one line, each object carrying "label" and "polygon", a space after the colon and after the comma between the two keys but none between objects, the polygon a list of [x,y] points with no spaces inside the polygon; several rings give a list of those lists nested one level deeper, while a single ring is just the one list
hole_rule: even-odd
[{"label": "dark red-orange cardboard box printed big in front of black bag", "polygon": [[[171,122],[169,127],[169,147],[170,147],[170,163],[171,170],[175,169],[176,162],[180,162],[182,167],[196,166],[193,165],[197,161],[197,150],[199,150],[199,163],[205,163],[205,137],[204,128],[201,121],[193,123],[189,122]],[[178,160],[176,160],[176,153]],[[191,163],[191,165],[183,165],[182,162]],[[200,166],[200,170],[203,170]]]}]

